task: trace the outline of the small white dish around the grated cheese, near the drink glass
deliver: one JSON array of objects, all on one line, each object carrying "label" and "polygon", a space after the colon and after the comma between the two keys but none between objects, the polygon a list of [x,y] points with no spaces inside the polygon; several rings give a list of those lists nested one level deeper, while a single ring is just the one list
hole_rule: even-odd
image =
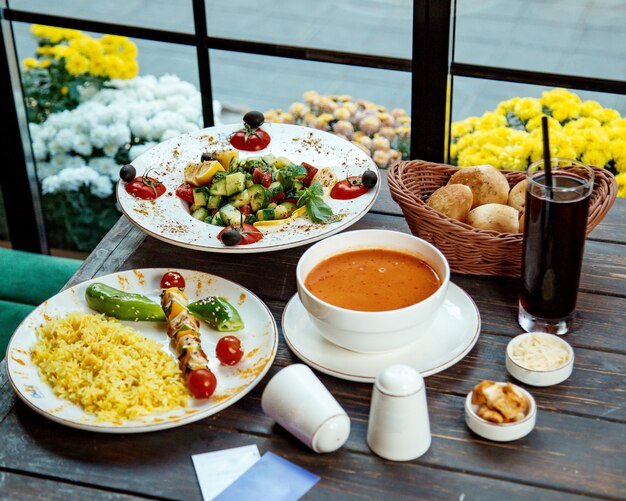
[{"label": "small white dish around the grated cheese, near the drink glass", "polygon": [[[530,369],[513,360],[513,348],[516,344],[529,339],[530,336],[537,336],[539,340],[545,340],[549,343],[556,343],[562,346],[568,353],[569,357],[567,361],[555,368],[541,370]],[[547,334],[544,332],[527,332],[515,336],[506,347],[506,370],[518,381],[529,384],[531,386],[552,386],[565,381],[574,370],[574,350],[570,344],[554,334]]]}]

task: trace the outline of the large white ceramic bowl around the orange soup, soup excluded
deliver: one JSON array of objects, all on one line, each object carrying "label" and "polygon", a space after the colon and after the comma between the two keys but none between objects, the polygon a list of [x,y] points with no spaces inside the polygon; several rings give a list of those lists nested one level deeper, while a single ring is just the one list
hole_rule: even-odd
[{"label": "large white ceramic bowl around the orange soup, soup excluded", "polygon": [[[321,261],[359,249],[406,252],[427,262],[439,275],[441,286],[419,303],[389,311],[357,311],[334,306],[305,287],[309,272]],[[407,233],[358,230],[340,233],[310,247],[296,267],[298,296],[320,334],[331,343],[360,353],[383,353],[415,342],[432,323],[450,283],[445,256],[432,244]]]}]

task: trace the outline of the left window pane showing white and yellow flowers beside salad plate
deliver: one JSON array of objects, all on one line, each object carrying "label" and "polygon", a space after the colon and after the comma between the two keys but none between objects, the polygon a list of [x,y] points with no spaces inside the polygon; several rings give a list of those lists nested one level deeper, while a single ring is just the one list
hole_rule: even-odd
[{"label": "left window pane showing white and yellow flowers beside salad plate", "polygon": [[14,33],[50,247],[90,251],[121,216],[120,166],[202,126],[195,51],[40,25]]}]

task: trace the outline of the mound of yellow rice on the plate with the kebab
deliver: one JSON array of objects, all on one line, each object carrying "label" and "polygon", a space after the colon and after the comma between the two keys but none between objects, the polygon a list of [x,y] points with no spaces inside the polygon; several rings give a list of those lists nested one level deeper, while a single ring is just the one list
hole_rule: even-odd
[{"label": "mound of yellow rice on the plate with the kebab", "polygon": [[55,395],[99,420],[133,419],[187,404],[176,361],[116,319],[70,313],[38,327],[37,338],[31,359],[41,378]]}]

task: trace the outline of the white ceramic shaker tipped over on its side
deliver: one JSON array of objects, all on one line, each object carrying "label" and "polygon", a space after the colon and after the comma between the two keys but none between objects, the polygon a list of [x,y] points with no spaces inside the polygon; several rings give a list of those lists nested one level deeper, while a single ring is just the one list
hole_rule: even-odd
[{"label": "white ceramic shaker tipped over on its side", "polygon": [[261,397],[263,412],[315,452],[332,452],[350,435],[350,418],[309,367],[278,372]]}]

